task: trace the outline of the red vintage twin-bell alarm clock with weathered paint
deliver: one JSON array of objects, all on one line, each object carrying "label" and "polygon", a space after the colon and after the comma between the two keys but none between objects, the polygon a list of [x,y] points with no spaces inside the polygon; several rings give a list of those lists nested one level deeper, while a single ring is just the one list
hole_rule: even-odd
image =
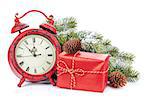
[{"label": "red vintage twin-bell alarm clock with weathered paint", "polygon": [[[20,19],[31,12],[41,13],[50,23],[41,24],[39,29],[26,29],[21,32],[29,26],[21,23]],[[61,47],[56,39],[56,29],[51,24],[52,21],[52,18],[38,10],[28,11],[20,17],[18,13],[15,15],[15,26],[11,33],[19,32],[19,35],[9,48],[8,61],[12,71],[21,79],[19,87],[24,81],[39,82],[47,79],[55,85],[52,75],[56,71]]]}]

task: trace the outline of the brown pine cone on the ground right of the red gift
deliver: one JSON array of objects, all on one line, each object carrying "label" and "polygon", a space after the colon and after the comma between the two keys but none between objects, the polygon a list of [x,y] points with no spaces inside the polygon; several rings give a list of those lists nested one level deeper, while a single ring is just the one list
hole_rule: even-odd
[{"label": "brown pine cone on the ground right of the red gift", "polygon": [[127,84],[127,78],[119,71],[114,71],[109,75],[109,85],[114,88],[120,88]]}]

